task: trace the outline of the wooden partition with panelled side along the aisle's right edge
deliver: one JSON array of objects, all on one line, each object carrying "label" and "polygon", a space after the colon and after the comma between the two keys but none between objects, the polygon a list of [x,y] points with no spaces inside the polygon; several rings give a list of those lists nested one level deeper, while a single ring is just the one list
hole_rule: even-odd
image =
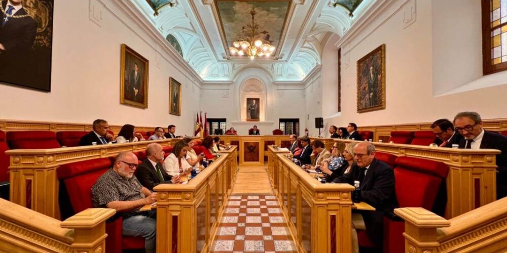
[{"label": "wooden partition with panelled side along the aisle's right edge", "polygon": [[348,184],[321,184],[286,154],[270,146],[270,181],[300,252],[350,252],[351,191]]}]

